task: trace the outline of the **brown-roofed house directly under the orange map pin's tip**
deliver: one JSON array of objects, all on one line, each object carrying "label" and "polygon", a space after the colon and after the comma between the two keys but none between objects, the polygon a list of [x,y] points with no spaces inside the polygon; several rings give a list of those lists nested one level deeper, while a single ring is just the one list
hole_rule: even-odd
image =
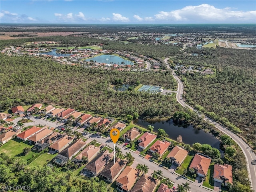
[{"label": "brown-roofed house directly under the orange map pin's tip", "polygon": [[106,167],[100,172],[100,177],[105,181],[110,183],[114,182],[118,175],[124,170],[127,161],[116,158],[116,163],[114,164],[114,160],[109,162]]}]

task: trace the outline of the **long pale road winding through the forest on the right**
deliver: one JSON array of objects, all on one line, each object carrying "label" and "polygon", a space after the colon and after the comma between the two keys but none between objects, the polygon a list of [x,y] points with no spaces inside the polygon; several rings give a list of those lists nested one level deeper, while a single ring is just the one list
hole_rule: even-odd
[{"label": "long pale road winding through the forest on the right", "polygon": [[[170,69],[170,66],[168,65],[168,62],[167,62],[169,59],[170,58],[164,59],[164,62],[166,63],[167,68]],[[188,108],[192,109],[193,111],[198,112],[196,109],[194,109],[193,107],[189,106],[188,104],[186,104],[184,102],[184,100],[182,98],[183,88],[184,88],[183,83],[174,71],[172,72],[172,75],[173,75],[174,79],[176,79],[177,82],[178,82],[178,90],[177,90],[177,94],[176,94],[177,101],[182,106],[188,107]],[[242,149],[242,151],[244,153],[244,156],[246,158],[247,170],[248,170],[250,182],[252,184],[252,189],[254,191],[256,191],[256,165],[251,164],[251,160],[256,159],[256,155],[252,152],[252,149],[248,146],[248,144],[246,144],[246,142],[244,142],[236,134],[234,134],[233,132],[231,132],[230,130],[225,128],[224,126],[218,124],[217,122],[215,122],[211,118],[205,117],[204,120],[207,120],[208,122],[214,124],[215,127],[218,128],[218,130],[220,130],[221,132],[230,136],[240,146],[240,148]]]}]

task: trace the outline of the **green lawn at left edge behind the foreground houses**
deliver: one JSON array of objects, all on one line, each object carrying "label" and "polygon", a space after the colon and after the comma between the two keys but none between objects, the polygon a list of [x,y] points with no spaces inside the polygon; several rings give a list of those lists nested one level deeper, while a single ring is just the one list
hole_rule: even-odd
[{"label": "green lawn at left edge behind the foreground houses", "polygon": [[28,144],[27,142],[23,142],[22,140],[12,139],[0,147],[0,152],[6,153],[8,156],[11,156],[11,157],[19,156],[22,159],[29,160],[32,158],[33,154],[36,154],[36,153],[30,151],[30,152],[28,152],[28,154],[23,156],[22,150],[25,147],[32,148],[33,145]]}]

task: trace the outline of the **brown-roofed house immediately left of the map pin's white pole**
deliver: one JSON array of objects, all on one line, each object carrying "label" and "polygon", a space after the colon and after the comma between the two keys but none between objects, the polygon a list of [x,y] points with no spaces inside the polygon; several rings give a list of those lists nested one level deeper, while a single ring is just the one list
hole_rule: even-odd
[{"label": "brown-roofed house immediately left of the map pin's white pole", "polygon": [[112,158],[114,158],[114,152],[102,151],[82,169],[80,174],[86,177],[96,177]]}]

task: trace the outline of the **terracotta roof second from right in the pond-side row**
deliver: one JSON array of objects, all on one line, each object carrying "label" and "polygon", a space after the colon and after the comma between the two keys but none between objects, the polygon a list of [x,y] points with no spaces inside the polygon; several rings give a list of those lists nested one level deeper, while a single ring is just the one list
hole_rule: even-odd
[{"label": "terracotta roof second from right in the pond-side row", "polygon": [[204,157],[200,154],[195,154],[189,168],[194,168],[197,173],[206,176],[210,163],[210,158]]}]

